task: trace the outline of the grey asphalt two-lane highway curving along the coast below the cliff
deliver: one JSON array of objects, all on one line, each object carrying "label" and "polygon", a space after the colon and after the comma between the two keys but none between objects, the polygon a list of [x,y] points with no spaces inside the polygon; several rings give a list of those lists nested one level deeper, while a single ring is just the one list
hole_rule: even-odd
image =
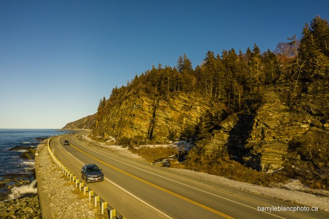
[{"label": "grey asphalt two-lane highway curving along the coast below the cliff", "polygon": [[[102,168],[104,182],[89,183],[88,187],[128,219],[328,218],[322,211],[261,211],[260,207],[297,205],[126,157],[84,141],[82,135],[86,133],[58,136],[50,146],[79,179],[86,163]],[[70,145],[64,145],[64,140]]]}]

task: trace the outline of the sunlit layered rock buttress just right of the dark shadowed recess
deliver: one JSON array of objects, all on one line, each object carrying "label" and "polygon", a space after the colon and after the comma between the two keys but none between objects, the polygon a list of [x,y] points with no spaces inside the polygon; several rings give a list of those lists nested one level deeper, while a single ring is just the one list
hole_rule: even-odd
[{"label": "sunlit layered rock buttress just right of the dark shadowed recess", "polygon": [[262,171],[282,167],[290,142],[306,133],[312,121],[311,115],[291,110],[275,92],[266,92],[244,146],[250,149],[243,155],[244,163]]}]

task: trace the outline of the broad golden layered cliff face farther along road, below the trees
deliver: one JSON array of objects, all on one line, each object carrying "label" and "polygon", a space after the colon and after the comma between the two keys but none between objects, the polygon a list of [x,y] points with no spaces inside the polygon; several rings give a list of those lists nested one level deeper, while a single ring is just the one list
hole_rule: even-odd
[{"label": "broad golden layered cliff face farther along road, below the trees", "polygon": [[141,137],[165,143],[193,132],[209,108],[207,99],[186,93],[156,99],[130,96],[121,104],[107,104],[97,115],[93,133],[101,138]]}]

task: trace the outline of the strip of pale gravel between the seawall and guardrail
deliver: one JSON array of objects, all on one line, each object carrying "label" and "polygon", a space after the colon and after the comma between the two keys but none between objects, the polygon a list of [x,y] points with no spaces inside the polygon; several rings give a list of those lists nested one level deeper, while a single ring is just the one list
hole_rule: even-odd
[{"label": "strip of pale gravel between the seawall and guardrail", "polygon": [[81,195],[52,160],[47,144],[37,147],[35,171],[43,218],[101,218],[99,209]]}]

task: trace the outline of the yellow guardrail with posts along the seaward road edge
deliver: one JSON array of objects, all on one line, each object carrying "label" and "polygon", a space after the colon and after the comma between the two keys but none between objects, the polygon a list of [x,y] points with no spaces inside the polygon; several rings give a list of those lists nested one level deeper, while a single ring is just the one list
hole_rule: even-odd
[{"label": "yellow guardrail with posts along the seaward road edge", "polygon": [[69,181],[72,181],[73,183],[75,183],[75,188],[77,188],[81,192],[83,192],[85,196],[87,196],[87,192],[88,192],[89,201],[91,201],[92,197],[94,197],[94,207],[97,207],[97,203],[99,202],[100,208],[101,208],[101,214],[104,214],[104,211],[106,209],[109,219],[114,219],[114,218],[126,219],[126,217],[124,217],[121,214],[119,214],[118,212],[116,212],[116,210],[113,207],[108,205],[107,202],[104,199],[100,198],[100,196],[97,195],[93,190],[89,189],[88,186],[84,186],[84,183],[81,182],[76,176],[74,176],[74,174],[71,173],[71,171],[62,164],[62,162],[54,155],[53,151],[50,148],[50,141],[53,138],[55,138],[55,136],[48,139],[47,148],[48,148],[49,154],[52,157],[52,159],[54,160],[54,162],[56,163],[56,165],[65,174],[66,178],[69,179]]}]

